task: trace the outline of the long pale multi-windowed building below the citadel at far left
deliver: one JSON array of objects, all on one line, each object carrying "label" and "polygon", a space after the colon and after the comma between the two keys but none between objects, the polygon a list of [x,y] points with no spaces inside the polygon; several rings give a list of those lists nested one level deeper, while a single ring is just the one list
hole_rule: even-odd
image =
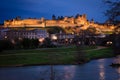
[{"label": "long pale multi-windowed building below the citadel at far left", "polygon": [[[4,33],[4,35],[3,35]],[[46,30],[4,30],[2,32],[2,39],[14,40],[14,39],[41,39],[48,37]]]}]

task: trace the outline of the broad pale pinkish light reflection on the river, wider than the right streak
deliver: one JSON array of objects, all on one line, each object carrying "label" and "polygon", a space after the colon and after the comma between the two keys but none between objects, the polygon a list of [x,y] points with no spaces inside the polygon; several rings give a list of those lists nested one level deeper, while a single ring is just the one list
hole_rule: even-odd
[{"label": "broad pale pinkish light reflection on the river, wider than the right streak", "polygon": [[72,80],[75,75],[75,69],[76,69],[76,66],[64,67],[64,70],[65,70],[64,78],[65,79],[63,80]]}]

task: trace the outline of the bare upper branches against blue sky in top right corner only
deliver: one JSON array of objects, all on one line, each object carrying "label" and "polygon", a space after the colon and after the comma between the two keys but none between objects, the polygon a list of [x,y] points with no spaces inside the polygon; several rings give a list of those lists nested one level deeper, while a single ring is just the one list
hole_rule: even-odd
[{"label": "bare upper branches against blue sky in top right corner only", "polygon": [[112,24],[120,23],[120,0],[105,0],[104,1],[109,9],[106,10],[105,15],[108,16]]}]

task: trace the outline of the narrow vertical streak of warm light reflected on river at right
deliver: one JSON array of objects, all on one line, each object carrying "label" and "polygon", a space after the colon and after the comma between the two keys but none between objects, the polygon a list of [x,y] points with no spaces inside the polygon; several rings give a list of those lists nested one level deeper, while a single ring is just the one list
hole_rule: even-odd
[{"label": "narrow vertical streak of warm light reflected on river at right", "polygon": [[105,60],[104,59],[100,59],[100,60],[98,60],[98,62],[99,62],[99,70],[100,70],[100,72],[99,72],[99,76],[100,76],[100,80],[105,80],[105,68],[104,68],[104,62],[105,62]]}]

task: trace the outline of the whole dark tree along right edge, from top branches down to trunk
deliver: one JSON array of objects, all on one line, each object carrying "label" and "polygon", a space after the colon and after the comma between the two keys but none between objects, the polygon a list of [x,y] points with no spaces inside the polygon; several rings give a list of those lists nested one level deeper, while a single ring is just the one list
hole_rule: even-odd
[{"label": "whole dark tree along right edge, from top branches down to trunk", "polygon": [[104,1],[108,6],[105,15],[110,23],[116,25],[113,36],[114,53],[120,54],[120,0]]}]

